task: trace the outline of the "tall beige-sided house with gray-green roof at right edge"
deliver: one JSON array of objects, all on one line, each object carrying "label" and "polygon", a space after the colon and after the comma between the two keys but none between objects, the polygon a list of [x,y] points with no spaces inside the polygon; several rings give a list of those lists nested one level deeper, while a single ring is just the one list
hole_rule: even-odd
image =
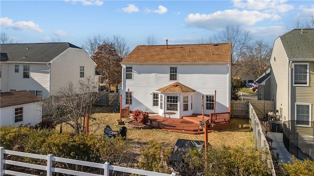
[{"label": "tall beige-sided house with gray-green roof at right edge", "polygon": [[276,39],[270,65],[270,99],[282,120],[296,120],[298,132],[313,136],[314,29],[294,29]]}]

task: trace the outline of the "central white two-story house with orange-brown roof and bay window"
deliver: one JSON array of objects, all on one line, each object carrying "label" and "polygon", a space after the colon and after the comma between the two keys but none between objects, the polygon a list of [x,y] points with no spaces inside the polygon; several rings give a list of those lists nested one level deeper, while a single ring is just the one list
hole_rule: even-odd
[{"label": "central white two-story house with orange-brown roof and bay window", "polygon": [[[231,101],[231,44],[137,46],[121,62],[122,107],[171,118],[227,112]],[[130,97],[128,96],[128,90]]]}]

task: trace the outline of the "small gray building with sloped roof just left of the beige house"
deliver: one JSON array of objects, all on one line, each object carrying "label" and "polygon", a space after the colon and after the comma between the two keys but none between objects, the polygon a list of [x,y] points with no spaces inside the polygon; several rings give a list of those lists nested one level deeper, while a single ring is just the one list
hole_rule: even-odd
[{"label": "small gray building with sloped roof just left of the beige house", "polygon": [[270,69],[262,74],[258,79],[255,80],[259,84],[258,88],[258,100],[272,101],[270,95]]}]

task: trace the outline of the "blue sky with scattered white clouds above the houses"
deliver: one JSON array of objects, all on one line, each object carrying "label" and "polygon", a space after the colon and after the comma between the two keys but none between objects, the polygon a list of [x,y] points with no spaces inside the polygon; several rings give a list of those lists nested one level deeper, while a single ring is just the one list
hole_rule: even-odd
[{"label": "blue sky with scattered white clouds above the houses", "polygon": [[0,31],[14,43],[69,42],[120,36],[133,50],[199,44],[227,25],[270,46],[295,23],[314,16],[314,0],[0,0]]}]

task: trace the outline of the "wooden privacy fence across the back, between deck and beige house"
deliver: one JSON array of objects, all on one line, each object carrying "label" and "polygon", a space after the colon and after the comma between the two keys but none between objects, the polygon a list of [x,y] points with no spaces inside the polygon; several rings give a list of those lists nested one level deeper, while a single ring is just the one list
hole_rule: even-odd
[{"label": "wooden privacy fence across the back, between deck and beige house", "polygon": [[274,102],[273,101],[264,101],[264,100],[249,100],[249,101],[231,101],[231,117],[238,118],[248,118],[248,103],[254,107],[256,111],[256,115],[262,119],[263,117],[267,117],[267,113],[269,111],[274,112]]}]

